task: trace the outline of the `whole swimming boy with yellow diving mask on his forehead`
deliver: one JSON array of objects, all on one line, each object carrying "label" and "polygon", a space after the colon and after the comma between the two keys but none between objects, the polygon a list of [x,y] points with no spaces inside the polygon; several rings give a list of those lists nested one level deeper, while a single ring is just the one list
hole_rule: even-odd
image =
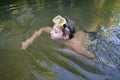
[{"label": "whole swimming boy with yellow diving mask on his forehead", "polygon": [[38,38],[43,32],[50,34],[51,39],[62,42],[65,47],[80,54],[86,58],[94,59],[95,56],[85,48],[86,36],[84,32],[75,33],[75,23],[69,18],[64,18],[60,15],[56,16],[52,20],[54,22],[53,28],[43,27],[22,42],[22,49],[26,49],[36,38]]}]

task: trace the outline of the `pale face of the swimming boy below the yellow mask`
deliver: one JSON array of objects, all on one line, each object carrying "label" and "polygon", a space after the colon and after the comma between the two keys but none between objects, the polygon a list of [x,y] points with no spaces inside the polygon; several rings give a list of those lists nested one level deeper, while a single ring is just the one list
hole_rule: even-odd
[{"label": "pale face of the swimming boy below the yellow mask", "polygon": [[52,31],[50,32],[52,39],[62,39],[63,31],[56,26],[53,26]]}]

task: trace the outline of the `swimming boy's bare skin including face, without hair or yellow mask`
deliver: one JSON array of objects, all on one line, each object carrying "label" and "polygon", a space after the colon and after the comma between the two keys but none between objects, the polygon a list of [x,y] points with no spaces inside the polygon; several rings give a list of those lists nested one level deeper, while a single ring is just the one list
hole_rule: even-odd
[{"label": "swimming boy's bare skin including face, without hair or yellow mask", "polygon": [[58,28],[56,25],[54,25],[53,28],[43,27],[38,31],[35,31],[32,37],[22,42],[22,49],[26,49],[37,37],[41,35],[42,32],[49,33],[53,40],[58,40],[65,48],[68,48],[86,58],[95,58],[95,56],[85,48],[86,36],[84,32],[79,31],[70,38],[70,33],[66,32],[64,34],[63,29],[61,30],[61,28]]}]

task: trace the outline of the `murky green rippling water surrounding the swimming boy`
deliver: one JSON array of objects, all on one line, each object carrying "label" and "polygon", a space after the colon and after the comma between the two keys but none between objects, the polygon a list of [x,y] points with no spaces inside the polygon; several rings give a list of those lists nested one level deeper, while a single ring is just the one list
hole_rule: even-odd
[{"label": "murky green rippling water surrounding the swimming boy", "polygon": [[[120,0],[4,0],[0,3],[0,80],[119,80]],[[77,31],[98,30],[93,41],[93,65],[60,52],[58,45],[43,34],[26,50],[21,42],[40,27],[52,26],[56,15],[69,16]],[[117,37],[116,37],[117,35]]]}]

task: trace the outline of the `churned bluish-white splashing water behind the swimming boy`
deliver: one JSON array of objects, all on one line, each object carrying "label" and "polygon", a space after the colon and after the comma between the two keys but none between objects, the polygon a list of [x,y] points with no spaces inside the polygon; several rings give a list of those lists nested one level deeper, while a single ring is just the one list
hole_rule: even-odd
[{"label": "churned bluish-white splashing water behind the swimming boy", "polygon": [[100,26],[96,38],[89,46],[96,55],[95,62],[114,69],[120,69],[120,27]]}]

